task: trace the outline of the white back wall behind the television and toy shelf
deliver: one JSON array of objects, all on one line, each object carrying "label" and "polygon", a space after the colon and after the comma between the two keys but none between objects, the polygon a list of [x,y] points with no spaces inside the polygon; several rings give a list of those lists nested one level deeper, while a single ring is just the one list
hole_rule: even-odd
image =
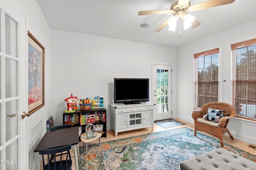
[{"label": "white back wall behind the television and toy shelf", "polygon": [[[176,89],[176,48],[129,42],[99,36],[51,31],[51,112],[54,125],[62,125],[64,100],[72,93],[78,99],[104,96],[107,128],[114,99],[114,77],[150,78],[152,62],[172,64],[173,89]],[[176,91],[176,90],[175,90]],[[176,111],[176,92],[173,95]],[[150,90],[150,102],[152,94]]]}]

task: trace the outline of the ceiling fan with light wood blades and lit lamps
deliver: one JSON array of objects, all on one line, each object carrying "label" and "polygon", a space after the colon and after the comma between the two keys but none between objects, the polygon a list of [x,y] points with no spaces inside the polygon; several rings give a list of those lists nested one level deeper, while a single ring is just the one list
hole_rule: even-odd
[{"label": "ceiling fan with light wood blades and lit lamps", "polygon": [[186,28],[196,28],[201,25],[195,17],[191,16],[188,12],[204,10],[207,8],[212,8],[215,6],[222,6],[226,4],[231,4],[235,0],[208,0],[200,2],[198,4],[190,5],[189,0],[178,0],[172,4],[170,10],[153,10],[153,11],[140,11],[138,13],[141,15],[155,15],[155,14],[172,14],[163,24],[161,24],[154,32],[160,32],[167,24],[170,26],[169,30],[175,31],[177,18],[181,18],[184,23],[184,29]]}]

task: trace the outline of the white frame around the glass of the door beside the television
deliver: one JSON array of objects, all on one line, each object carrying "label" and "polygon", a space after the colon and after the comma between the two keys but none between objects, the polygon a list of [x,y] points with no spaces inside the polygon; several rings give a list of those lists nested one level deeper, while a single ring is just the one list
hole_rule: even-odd
[{"label": "white frame around the glass of the door beside the television", "polygon": [[158,62],[152,62],[152,101],[155,104],[154,105],[154,121],[162,120],[162,119],[156,119],[155,115],[157,113],[157,102],[155,101],[154,97],[154,87],[155,87],[155,77],[154,77],[154,67],[155,65],[162,65],[162,66],[170,66],[170,79],[169,79],[169,105],[170,105],[170,110],[169,113],[170,115],[164,116],[163,119],[172,119],[172,65],[170,63],[158,63]]}]

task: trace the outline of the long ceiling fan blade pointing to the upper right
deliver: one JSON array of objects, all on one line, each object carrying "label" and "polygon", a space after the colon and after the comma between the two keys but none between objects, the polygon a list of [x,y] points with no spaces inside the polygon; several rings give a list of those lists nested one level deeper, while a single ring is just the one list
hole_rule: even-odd
[{"label": "long ceiling fan blade pointing to the upper right", "polygon": [[226,4],[231,4],[235,0],[208,0],[205,2],[200,2],[198,4],[194,4],[188,7],[189,12],[198,11],[198,10],[204,10],[207,8],[212,8],[215,6],[221,6]]}]

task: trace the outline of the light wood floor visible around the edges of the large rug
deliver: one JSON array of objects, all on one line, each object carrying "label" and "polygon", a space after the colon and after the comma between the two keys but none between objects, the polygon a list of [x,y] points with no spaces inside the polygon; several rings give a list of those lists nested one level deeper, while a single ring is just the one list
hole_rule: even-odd
[{"label": "light wood floor visible around the edges of the large rug", "polygon": [[[114,134],[113,130],[107,130],[107,137],[106,138],[102,137],[101,138],[101,143],[109,141],[109,140],[115,140],[115,139],[130,137],[130,136],[137,136],[137,135],[140,135],[140,134],[148,134],[148,133],[152,133],[152,132],[159,132],[159,131],[170,130],[170,129],[174,129],[174,128],[181,128],[181,127],[188,127],[188,128],[191,128],[191,129],[194,130],[194,124],[182,121],[180,119],[176,119],[176,120],[180,121],[182,123],[186,123],[186,125],[181,125],[181,126],[172,127],[172,128],[162,128],[162,127],[154,124],[154,130],[152,130],[151,127],[142,128],[142,129],[138,129],[138,130],[130,130],[130,131],[118,133],[117,137],[115,137],[115,134]],[[212,136],[208,133],[204,133],[204,132],[201,132],[201,133],[206,134],[210,137],[216,138],[215,136]],[[218,138],[216,138],[216,139],[218,139]],[[237,139],[232,140],[229,136],[223,135],[223,142],[227,143],[227,144],[230,144],[232,146],[235,146],[237,148],[240,148],[242,150],[245,150],[246,152],[250,152],[251,154],[256,155],[256,149],[252,146],[249,146],[248,143],[243,142],[241,140],[237,140]],[[98,140],[96,140],[92,143],[98,143]],[[83,142],[79,142],[79,146],[83,146]],[[76,170],[75,159],[74,159],[74,150],[70,150],[70,152],[71,152],[71,156],[72,156],[72,170]],[[41,161],[41,164],[40,164],[40,170],[42,170],[42,161]]]}]

